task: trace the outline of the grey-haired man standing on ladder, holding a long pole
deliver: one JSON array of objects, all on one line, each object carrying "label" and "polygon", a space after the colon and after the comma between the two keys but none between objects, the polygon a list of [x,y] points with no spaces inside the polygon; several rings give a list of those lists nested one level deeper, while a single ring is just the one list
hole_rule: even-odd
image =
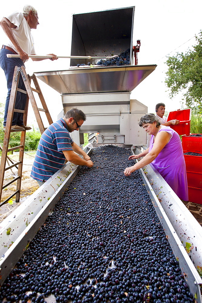
[{"label": "grey-haired man standing on ladder, holding a long pole", "polygon": [[[29,58],[28,55],[35,55],[34,40],[31,35],[31,29],[36,29],[38,24],[37,11],[31,5],[25,5],[23,13],[12,12],[9,16],[2,18],[0,21],[0,25],[8,37],[8,41],[5,42],[5,45],[2,45],[2,49],[0,51],[0,66],[5,72],[8,88],[8,95],[5,104],[4,130],[8,114],[14,69],[15,66],[24,66],[24,62]],[[20,55],[20,58],[7,58],[7,54]],[[49,58],[50,60],[57,60],[56,55],[49,55],[52,56]],[[41,61],[45,59],[47,58],[32,58],[33,61]],[[26,91],[21,76],[19,78],[18,88]],[[24,110],[25,104],[26,94],[18,91],[16,95],[15,109]],[[11,132],[21,132],[24,129],[29,130],[31,127],[24,125],[23,113],[14,112]]]}]

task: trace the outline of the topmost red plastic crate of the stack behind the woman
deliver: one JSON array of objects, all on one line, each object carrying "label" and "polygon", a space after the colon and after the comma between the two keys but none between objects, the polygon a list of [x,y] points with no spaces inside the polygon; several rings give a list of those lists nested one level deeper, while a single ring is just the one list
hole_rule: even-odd
[{"label": "topmost red plastic crate of the stack behind the woman", "polygon": [[[192,134],[195,135],[195,134]],[[182,137],[182,149],[183,152],[192,151],[202,154],[202,137]]]}]

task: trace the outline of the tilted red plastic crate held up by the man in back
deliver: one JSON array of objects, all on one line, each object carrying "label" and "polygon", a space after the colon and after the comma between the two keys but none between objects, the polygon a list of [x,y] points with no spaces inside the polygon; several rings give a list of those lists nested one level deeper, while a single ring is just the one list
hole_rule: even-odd
[{"label": "tilted red plastic crate held up by the man in back", "polygon": [[190,121],[191,121],[191,109],[182,109],[181,111],[169,112],[167,121],[179,120],[180,123],[177,125],[170,125],[178,135],[189,135],[190,134]]}]

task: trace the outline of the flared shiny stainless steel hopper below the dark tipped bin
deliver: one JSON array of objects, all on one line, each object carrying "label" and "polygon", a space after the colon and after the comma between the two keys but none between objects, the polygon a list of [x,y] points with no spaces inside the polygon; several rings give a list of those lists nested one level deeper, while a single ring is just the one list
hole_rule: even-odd
[{"label": "flared shiny stainless steel hopper below the dark tipped bin", "polygon": [[34,74],[61,95],[132,92],[156,65],[70,68]]}]

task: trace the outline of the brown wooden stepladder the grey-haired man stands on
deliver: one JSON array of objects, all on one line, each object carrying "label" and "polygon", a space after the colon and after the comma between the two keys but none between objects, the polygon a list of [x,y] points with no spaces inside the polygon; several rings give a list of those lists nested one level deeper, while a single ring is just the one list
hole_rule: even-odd
[{"label": "brown wooden stepladder the grey-haired man stands on", "polygon": [[[19,82],[20,75],[22,76],[22,79],[24,81],[26,91],[18,88],[18,82]],[[31,87],[31,80],[33,80],[35,88]],[[26,105],[25,105],[24,110],[15,109],[15,99],[16,99],[17,91],[19,91],[21,93],[24,93],[24,94],[27,94],[27,100],[26,100]],[[36,103],[36,100],[34,98],[33,92],[37,92],[37,94],[39,95],[39,98],[40,98],[40,101],[41,101],[41,104],[42,104],[43,108],[38,108],[37,107],[37,103]],[[44,132],[45,128],[44,128],[44,124],[42,122],[41,115],[40,115],[39,112],[40,111],[45,112],[49,124],[52,124],[53,121],[50,117],[50,113],[48,111],[48,108],[47,108],[46,102],[44,100],[44,97],[42,95],[41,88],[40,88],[40,86],[38,84],[38,81],[37,81],[37,78],[34,74],[32,76],[29,76],[29,75],[26,74],[24,66],[21,66],[21,67],[16,66],[15,71],[14,71],[14,75],[13,75],[11,96],[10,96],[10,101],[9,101],[8,115],[7,115],[5,134],[4,134],[4,142],[3,142],[3,147],[2,147],[2,158],[1,158],[1,164],[0,164],[0,201],[1,201],[1,196],[2,196],[2,190],[4,188],[6,188],[8,185],[12,184],[15,181],[17,181],[17,185],[16,185],[16,191],[10,197],[8,197],[5,201],[3,201],[2,204],[0,204],[0,207],[2,205],[4,205],[6,202],[8,202],[15,195],[16,195],[15,201],[19,202],[19,200],[20,200],[20,188],[21,188],[22,165],[23,165],[24,143],[25,143],[25,133],[26,133],[26,131],[25,130],[21,131],[20,145],[12,147],[12,148],[8,148],[8,145],[9,145],[9,139],[10,139],[10,134],[11,134],[11,125],[12,125],[13,113],[14,112],[24,113],[23,114],[23,123],[24,123],[24,125],[27,125],[29,100],[31,102],[31,105],[32,105],[32,108],[33,108],[33,111],[34,111],[34,115],[36,117],[40,132],[42,134]],[[12,165],[5,168],[6,160],[7,160],[7,157],[8,157],[7,156],[8,151],[13,151],[13,150],[16,150],[16,149],[20,150],[18,162],[13,163]],[[14,178],[13,180],[9,181],[7,184],[3,185],[5,171],[8,170],[8,169],[11,169],[14,166],[18,167],[17,177]]]}]

